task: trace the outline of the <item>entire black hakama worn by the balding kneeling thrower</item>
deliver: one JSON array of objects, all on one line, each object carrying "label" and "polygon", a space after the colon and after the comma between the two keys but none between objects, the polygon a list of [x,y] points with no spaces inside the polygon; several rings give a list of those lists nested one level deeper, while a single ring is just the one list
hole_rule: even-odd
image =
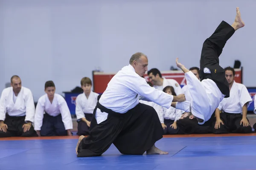
[{"label": "entire black hakama worn by the balding kneeling thrower", "polygon": [[77,156],[100,156],[112,143],[121,153],[143,154],[163,137],[162,134],[154,108],[139,103],[125,114],[108,114],[107,120],[100,124],[93,116],[90,135],[81,140]]}]

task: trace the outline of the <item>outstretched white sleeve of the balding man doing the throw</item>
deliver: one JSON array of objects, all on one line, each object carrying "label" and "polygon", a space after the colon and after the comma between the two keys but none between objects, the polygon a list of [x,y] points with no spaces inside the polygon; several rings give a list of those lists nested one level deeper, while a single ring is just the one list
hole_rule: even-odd
[{"label": "outstretched white sleeve of the balding man doing the throw", "polygon": [[137,94],[165,108],[171,107],[173,96],[151,87],[146,80],[139,75],[128,77],[125,80],[125,85]]}]

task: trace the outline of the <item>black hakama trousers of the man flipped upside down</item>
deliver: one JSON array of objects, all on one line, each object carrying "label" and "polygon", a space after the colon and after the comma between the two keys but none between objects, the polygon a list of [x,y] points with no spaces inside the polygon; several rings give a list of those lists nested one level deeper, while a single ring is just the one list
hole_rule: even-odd
[{"label": "black hakama trousers of the man flipped upside down", "polygon": [[225,21],[222,21],[215,32],[205,40],[201,52],[200,60],[200,78],[201,80],[209,78],[205,77],[204,68],[211,71],[211,79],[216,82],[222,94],[229,96],[229,86],[224,75],[224,69],[219,65],[219,56],[230,37],[235,30]]}]

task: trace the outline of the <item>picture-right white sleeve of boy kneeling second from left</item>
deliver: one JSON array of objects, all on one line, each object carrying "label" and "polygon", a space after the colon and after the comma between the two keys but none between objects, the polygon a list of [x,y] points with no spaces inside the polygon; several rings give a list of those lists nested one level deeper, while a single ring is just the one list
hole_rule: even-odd
[{"label": "picture-right white sleeve of boy kneeling second from left", "polygon": [[64,98],[60,98],[59,107],[61,111],[62,122],[64,123],[65,129],[66,130],[73,129],[71,113],[67,106],[67,102],[65,101]]}]

